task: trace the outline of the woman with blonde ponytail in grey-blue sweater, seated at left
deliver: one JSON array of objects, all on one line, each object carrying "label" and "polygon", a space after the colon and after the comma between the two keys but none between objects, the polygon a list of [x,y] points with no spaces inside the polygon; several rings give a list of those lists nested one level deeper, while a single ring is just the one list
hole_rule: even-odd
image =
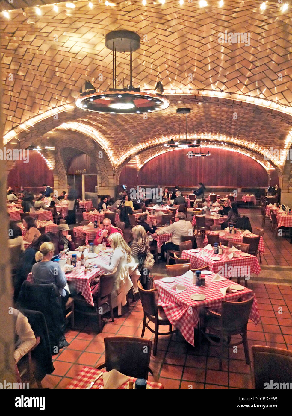
[{"label": "woman with blonde ponytail in grey-blue sweater, seated at left", "polygon": [[64,289],[67,279],[58,262],[51,261],[54,250],[53,243],[42,243],[40,245],[40,250],[35,253],[36,263],[32,266],[32,278],[33,282],[37,284],[54,283],[62,296],[63,302],[66,302],[69,297],[69,293]]}]

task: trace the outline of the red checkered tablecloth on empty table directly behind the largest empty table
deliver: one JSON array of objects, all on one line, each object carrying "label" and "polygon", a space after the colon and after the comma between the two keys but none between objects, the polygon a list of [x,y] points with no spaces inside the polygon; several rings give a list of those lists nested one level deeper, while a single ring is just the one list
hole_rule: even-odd
[{"label": "red checkered tablecloth on empty table directly behind the largest empty table", "polygon": [[[205,250],[204,248],[200,248],[198,250],[200,250],[199,253],[194,253],[192,250],[184,250],[182,252],[182,258],[190,258],[192,269],[195,269],[196,267],[208,266],[212,272],[218,273],[218,271],[220,272],[222,270],[221,267],[224,267],[226,264],[227,267],[250,267],[250,273],[255,273],[256,275],[259,275],[261,271],[260,264],[257,258],[253,255],[250,255],[250,257],[242,257],[239,254],[236,254],[236,258],[230,259],[227,257],[227,255],[230,254],[228,249],[225,249],[224,254],[219,255],[215,255],[213,250]],[[210,255],[207,257],[201,257],[200,253],[202,250],[210,253]],[[211,257],[220,257],[221,260],[211,260]]]}]

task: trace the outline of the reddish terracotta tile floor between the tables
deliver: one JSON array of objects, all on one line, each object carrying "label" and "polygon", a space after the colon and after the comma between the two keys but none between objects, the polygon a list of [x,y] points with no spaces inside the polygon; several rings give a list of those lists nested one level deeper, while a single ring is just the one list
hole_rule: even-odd
[{"label": "reddish terracotta tile floor between the tables", "polygon": [[[250,215],[252,228],[261,226],[257,209],[240,209]],[[292,245],[287,238],[275,240],[267,224],[265,227],[265,255],[262,264],[292,265]],[[155,271],[163,272],[165,263]],[[159,276],[161,278],[161,276]],[[260,310],[260,322],[248,324],[248,341],[252,345],[268,345],[292,350],[292,285],[251,283]],[[53,357],[55,371],[42,381],[43,387],[64,389],[83,365],[97,366],[104,362],[104,338],[114,335],[141,336],[142,306],[140,300],[124,307],[122,317],[115,318],[97,334],[94,320],[85,321],[76,314],[76,328],[67,330],[66,339],[70,345]],[[153,334],[146,330],[145,337]],[[227,354],[227,352],[226,352]],[[252,388],[251,365],[245,363],[242,345],[237,352],[229,350],[219,371],[218,348],[203,341],[200,349],[190,346],[179,332],[159,336],[157,356],[151,355],[150,366],[159,375],[165,389],[250,389]],[[149,376],[152,380],[152,376]]]}]

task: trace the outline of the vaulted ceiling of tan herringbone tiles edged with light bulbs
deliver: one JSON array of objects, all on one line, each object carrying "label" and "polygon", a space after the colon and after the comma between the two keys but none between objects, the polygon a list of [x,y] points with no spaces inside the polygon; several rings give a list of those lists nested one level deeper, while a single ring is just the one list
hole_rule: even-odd
[{"label": "vaulted ceiling of tan herringbone tiles edged with light bulbs", "polygon": [[[190,106],[188,133],[254,152],[290,146],[292,125],[292,9],[282,3],[207,1],[75,1],[74,9],[50,0],[40,7],[1,1],[5,142],[53,141],[64,129],[87,134],[118,168],[133,154],[179,132],[176,108]],[[35,4],[30,2],[30,4]],[[26,7],[12,10],[13,7]],[[167,110],[147,116],[92,114],[74,109],[86,79],[97,90],[111,87],[112,61],[105,47],[111,30],[141,37],[134,52],[133,81],[153,90],[160,80]],[[246,43],[220,43],[220,33],[246,33]],[[130,80],[128,54],[117,54],[118,87]],[[72,104],[72,108],[70,108]],[[53,115],[55,114],[55,117]],[[56,118],[57,114],[57,118]],[[38,116],[38,119],[35,117]],[[26,124],[25,121],[27,121]],[[57,130],[54,130],[57,129]],[[182,129],[182,131],[184,131]],[[205,135],[205,136],[204,136]],[[234,145],[235,145],[234,144]],[[158,147],[160,146],[160,147]],[[145,160],[145,158],[143,158]],[[280,165],[279,165],[280,166]]]}]

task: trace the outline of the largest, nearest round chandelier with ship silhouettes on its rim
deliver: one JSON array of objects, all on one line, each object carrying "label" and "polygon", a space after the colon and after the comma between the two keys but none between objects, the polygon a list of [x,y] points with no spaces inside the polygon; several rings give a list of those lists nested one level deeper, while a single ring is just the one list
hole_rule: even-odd
[{"label": "largest, nearest round chandelier with ship silhouettes on its rim", "polygon": [[[105,46],[112,50],[112,88],[104,92],[96,92],[91,82],[85,82],[80,89],[80,98],[76,106],[82,110],[108,114],[151,113],[166,109],[170,103],[162,94],[161,82],[157,82],[154,94],[140,91],[132,84],[132,54],[140,48],[140,36],[130,30],[114,30],[105,37]],[[117,88],[116,56],[117,52],[130,52],[130,84]]]}]

